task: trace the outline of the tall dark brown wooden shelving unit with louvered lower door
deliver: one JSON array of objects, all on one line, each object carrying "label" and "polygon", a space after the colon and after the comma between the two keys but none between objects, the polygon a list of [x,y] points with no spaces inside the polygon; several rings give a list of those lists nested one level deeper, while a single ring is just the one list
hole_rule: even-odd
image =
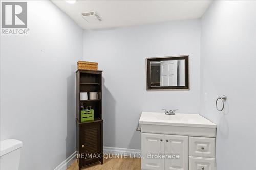
[{"label": "tall dark brown wooden shelving unit with louvered lower door", "polygon": [[[98,99],[80,100],[80,92],[98,92]],[[80,102],[85,107],[92,106],[94,120],[80,121]],[[77,158],[79,170],[95,163],[103,164],[102,71],[76,71],[76,122],[76,151],[80,155],[80,158]],[[90,154],[96,156],[100,154],[100,157],[84,159]],[[83,158],[82,155],[84,155]]]}]

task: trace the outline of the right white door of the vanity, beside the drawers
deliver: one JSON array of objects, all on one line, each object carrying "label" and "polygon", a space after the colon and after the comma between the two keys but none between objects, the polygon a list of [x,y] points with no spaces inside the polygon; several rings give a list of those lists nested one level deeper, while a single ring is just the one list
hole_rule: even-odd
[{"label": "right white door of the vanity, beside the drawers", "polygon": [[[188,170],[188,136],[164,135],[164,155],[165,170]],[[179,159],[170,155],[179,155]]]}]

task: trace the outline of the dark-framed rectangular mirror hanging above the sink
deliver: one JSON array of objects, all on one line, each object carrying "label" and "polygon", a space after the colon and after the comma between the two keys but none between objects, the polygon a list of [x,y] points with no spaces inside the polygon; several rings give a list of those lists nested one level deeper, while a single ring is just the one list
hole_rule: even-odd
[{"label": "dark-framed rectangular mirror hanging above the sink", "polygon": [[147,90],[189,89],[189,56],[147,58]]}]

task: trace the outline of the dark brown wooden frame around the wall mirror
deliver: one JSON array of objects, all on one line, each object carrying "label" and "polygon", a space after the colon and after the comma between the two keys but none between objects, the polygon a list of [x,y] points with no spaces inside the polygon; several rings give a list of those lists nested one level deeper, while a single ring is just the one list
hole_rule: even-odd
[{"label": "dark brown wooden frame around the wall mirror", "polygon": [[[164,60],[185,60],[185,86],[151,86],[150,62]],[[189,90],[189,55],[146,58],[146,74],[147,90]]]}]

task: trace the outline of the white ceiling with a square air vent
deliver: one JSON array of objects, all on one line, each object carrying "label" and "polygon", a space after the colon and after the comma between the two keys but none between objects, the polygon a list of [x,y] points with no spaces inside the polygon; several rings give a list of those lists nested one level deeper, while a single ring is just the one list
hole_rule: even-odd
[{"label": "white ceiling with a square air vent", "polygon": [[[83,29],[113,28],[172,20],[200,18],[212,1],[202,0],[52,0]],[[101,22],[88,23],[80,13],[96,11]]]}]

